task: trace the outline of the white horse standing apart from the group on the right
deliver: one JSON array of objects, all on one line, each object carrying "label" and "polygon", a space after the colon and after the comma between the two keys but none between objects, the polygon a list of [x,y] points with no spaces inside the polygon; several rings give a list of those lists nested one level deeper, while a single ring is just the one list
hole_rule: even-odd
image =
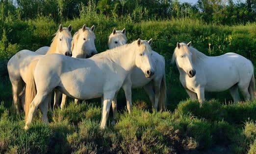
[{"label": "white horse standing apart from the group on the right", "polygon": [[236,53],[206,56],[188,44],[177,43],[173,62],[179,69],[179,80],[193,100],[205,100],[205,91],[230,89],[234,102],[240,101],[238,88],[245,100],[255,98],[254,66]]}]

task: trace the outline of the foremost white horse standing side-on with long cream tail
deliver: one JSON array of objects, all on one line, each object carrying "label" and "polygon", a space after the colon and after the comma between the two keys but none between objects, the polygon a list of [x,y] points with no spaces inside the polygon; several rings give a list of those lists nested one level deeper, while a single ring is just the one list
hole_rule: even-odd
[{"label": "foremost white horse standing side-on with long cream tail", "polygon": [[26,86],[25,129],[39,106],[43,121],[48,123],[48,96],[54,88],[77,99],[102,97],[101,128],[105,128],[111,102],[132,69],[141,68],[148,78],[154,75],[151,55],[150,44],[138,39],[89,59],[52,54],[33,61]]}]

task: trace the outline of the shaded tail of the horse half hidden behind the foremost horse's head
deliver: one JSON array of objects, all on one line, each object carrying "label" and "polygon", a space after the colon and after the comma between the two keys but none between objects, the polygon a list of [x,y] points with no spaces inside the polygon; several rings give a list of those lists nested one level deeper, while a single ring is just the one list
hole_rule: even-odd
[{"label": "shaded tail of the horse half hidden behind the foremost horse's head", "polygon": [[160,98],[159,98],[159,109],[160,111],[166,110],[166,82],[165,82],[165,73],[162,77],[160,84]]}]

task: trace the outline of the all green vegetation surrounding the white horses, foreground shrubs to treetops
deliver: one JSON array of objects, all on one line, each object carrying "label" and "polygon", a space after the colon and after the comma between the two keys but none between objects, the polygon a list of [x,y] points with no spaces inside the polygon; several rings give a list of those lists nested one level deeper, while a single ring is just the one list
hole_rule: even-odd
[{"label": "all green vegetation surrounding the white horses, foreground shrubs to treetops", "polygon": [[[232,104],[228,91],[207,93],[209,101],[199,108],[171,63],[177,42],[192,41],[206,55],[235,52],[256,65],[255,22],[256,0],[0,0],[0,153],[256,154],[256,101]],[[152,112],[145,92],[136,89],[132,115],[121,92],[118,123],[106,130],[99,129],[94,99],[49,111],[50,126],[39,112],[25,132],[24,116],[10,110],[6,62],[19,50],[49,46],[59,23],[72,24],[73,34],[95,24],[99,52],[113,28],[125,27],[128,42],[153,38],[154,51],[166,61],[168,111]]]}]

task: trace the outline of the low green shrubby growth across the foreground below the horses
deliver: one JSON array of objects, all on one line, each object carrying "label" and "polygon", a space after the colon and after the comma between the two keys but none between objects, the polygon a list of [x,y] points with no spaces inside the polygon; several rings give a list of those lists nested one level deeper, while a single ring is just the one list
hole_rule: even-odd
[{"label": "low green shrubby growth across the foreground below the horses", "polygon": [[151,112],[141,109],[142,103],[136,103],[132,114],[119,110],[117,124],[111,126],[109,118],[107,129],[101,130],[97,104],[70,102],[65,110],[49,111],[48,126],[37,114],[27,132],[24,116],[2,104],[0,153],[204,154],[216,145],[230,154],[255,152],[256,101],[224,105],[211,100],[199,108],[198,102],[187,100],[173,112]]}]

